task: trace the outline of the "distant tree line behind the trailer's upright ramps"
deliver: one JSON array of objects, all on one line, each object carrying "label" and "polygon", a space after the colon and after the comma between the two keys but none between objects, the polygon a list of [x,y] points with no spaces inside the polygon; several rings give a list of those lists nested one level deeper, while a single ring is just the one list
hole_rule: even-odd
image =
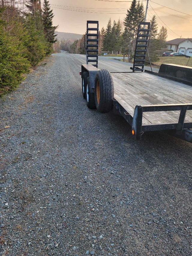
[{"label": "distant tree line behind the trailer's upright ramps", "polygon": [[[131,7],[127,10],[126,17],[123,21],[113,21],[110,19],[106,29],[99,31],[99,55],[102,52],[119,54],[122,53],[128,57],[128,61],[134,57],[134,50],[137,38],[137,29],[140,22],[144,21],[145,12],[143,3],[133,0]],[[156,51],[166,47],[167,28],[162,26],[158,33],[156,16],[151,20],[150,26],[150,44],[149,55],[152,59],[156,58]],[[70,53],[85,54],[84,35],[81,39],[71,44]]]}]

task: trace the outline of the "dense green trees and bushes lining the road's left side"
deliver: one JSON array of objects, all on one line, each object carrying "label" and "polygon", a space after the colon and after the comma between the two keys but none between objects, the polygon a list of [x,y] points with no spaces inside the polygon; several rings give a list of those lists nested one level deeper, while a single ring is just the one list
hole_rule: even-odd
[{"label": "dense green trees and bushes lining the road's left side", "polygon": [[23,74],[52,52],[56,42],[49,1],[1,0],[0,95],[16,88]]}]

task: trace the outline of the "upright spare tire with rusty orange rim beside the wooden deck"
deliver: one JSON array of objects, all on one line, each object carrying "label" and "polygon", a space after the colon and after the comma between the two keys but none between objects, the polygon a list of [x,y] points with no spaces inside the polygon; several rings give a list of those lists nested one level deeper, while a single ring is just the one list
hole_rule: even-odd
[{"label": "upright spare tire with rusty orange rim beside the wooden deck", "polygon": [[95,105],[100,113],[108,113],[113,104],[114,86],[111,74],[101,69],[95,76]]}]

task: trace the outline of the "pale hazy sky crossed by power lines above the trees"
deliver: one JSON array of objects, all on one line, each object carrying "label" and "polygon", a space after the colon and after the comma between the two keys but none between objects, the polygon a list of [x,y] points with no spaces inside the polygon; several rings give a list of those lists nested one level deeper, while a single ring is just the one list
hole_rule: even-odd
[{"label": "pale hazy sky crossed by power lines above the trees", "polygon": [[[100,29],[103,26],[106,28],[107,22],[110,17],[112,21],[118,20],[119,18],[121,20],[124,20],[127,12],[126,9],[130,7],[131,2],[120,2],[122,0],[116,1],[119,2],[104,2],[101,0],[49,0],[49,3],[51,4],[55,15],[55,17],[53,18],[53,23],[55,26],[59,25],[57,31],[83,34],[86,30],[87,20],[98,20]],[[171,9],[157,5],[154,2],[186,14],[173,11]],[[145,8],[146,1],[144,1],[143,4]],[[192,38],[192,0],[153,0],[153,2],[149,1],[149,4],[152,6],[152,8],[157,9],[155,10],[155,12],[160,17],[157,17],[159,29],[160,26],[165,26],[165,24],[168,26],[168,40],[179,38],[181,35],[182,38]],[[55,7],[53,7],[53,5]],[[148,9],[147,20],[150,20],[150,16],[152,17],[152,15],[155,14],[150,5]],[[75,9],[77,11],[70,11],[59,8]],[[114,10],[113,8],[119,9]],[[92,11],[97,13],[87,13],[84,11]],[[167,14],[160,11],[166,12]],[[180,16],[188,20],[171,16],[169,14]],[[175,33],[178,35],[176,35]]]}]

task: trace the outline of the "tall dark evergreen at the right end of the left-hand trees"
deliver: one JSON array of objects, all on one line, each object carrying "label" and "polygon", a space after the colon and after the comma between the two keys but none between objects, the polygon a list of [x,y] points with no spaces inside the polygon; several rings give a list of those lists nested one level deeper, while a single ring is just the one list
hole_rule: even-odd
[{"label": "tall dark evergreen at the right end of the left-hand trees", "polygon": [[54,17],[54,15],[50,8],[49,1],[44,0],[43,14],[42,14],[44,33],[45,33],[45,38],[47,39],[47,41],[52,44],[57,41],[55,39],[55,37],[57,36],[57,35],[55,35],[55,29],[58,28],[58,26],[52,26],[53,25],[53,23],[52,23],[53,17]]}]

